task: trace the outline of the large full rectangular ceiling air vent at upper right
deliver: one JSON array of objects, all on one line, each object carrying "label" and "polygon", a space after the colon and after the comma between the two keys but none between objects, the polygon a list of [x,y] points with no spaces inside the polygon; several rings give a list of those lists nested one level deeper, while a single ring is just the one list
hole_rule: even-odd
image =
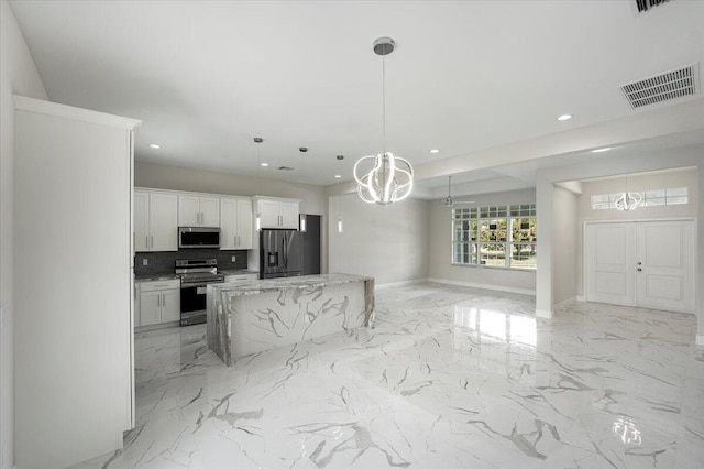
[{"label": "large full rectangular ceiling air vent at upper right", "polygon": [[634,109],[698,92],[698,66],[690,65],[679,70],[623,85],[626,99]]}]

